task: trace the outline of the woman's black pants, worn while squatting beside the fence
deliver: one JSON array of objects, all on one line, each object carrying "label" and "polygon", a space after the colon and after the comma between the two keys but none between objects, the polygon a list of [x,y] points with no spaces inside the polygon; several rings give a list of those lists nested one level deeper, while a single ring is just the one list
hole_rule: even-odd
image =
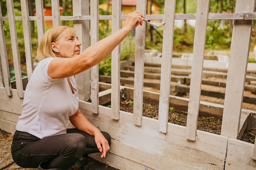
[{"label": "woman's black pants, worn while squatting beside the fence", "polygon": [[[110,145],[110,135],[102,132]],[[67,129],[66,134],[43,139],[27,132],[16,131],[11,154],[13,161],[23,168],[38,168],[50,161],[49,168],[68,169],[83,155],[99,152],[94,136],[77,129]]]}]

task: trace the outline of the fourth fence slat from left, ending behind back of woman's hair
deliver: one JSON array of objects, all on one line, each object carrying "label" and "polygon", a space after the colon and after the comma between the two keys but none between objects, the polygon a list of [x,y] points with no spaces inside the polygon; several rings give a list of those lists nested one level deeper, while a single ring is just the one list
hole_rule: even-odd
[{"label": "fourth fence slat from left, ending behind back of woman's hair", "polygon": [[38,43],[40,42],[43,34],[45,34],[45,16],[43,9],[43,0],[36,0],[36,24],[37,24],[37,37]]}]

